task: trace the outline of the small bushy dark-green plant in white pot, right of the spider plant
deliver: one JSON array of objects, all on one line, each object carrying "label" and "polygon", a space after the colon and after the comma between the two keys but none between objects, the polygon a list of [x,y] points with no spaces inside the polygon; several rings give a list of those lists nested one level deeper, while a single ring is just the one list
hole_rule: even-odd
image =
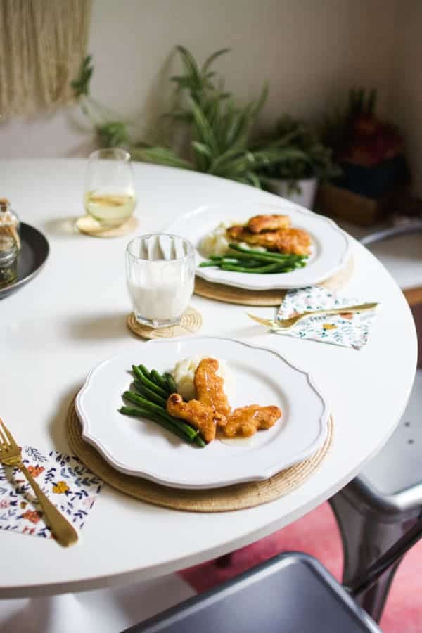
[{"label": "small bushy dark-green plant in white pot, right of the spider plant", "polygon": [[332,160],[332,151],[309,123],[284,115],[271,134],[274,143],[298,151],[281,156],[260,170],[262,183],[273,193],[312,209],[319,182],[341,171]]}]

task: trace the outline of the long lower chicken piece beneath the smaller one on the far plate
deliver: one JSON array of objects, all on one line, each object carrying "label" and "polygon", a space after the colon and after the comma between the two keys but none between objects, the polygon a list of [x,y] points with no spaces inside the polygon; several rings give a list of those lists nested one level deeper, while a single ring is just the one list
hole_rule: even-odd
[{"label": "long lower chicken piece beneath the smaller one on the far plate", "polygon": [[292,255],[309,255],[311,238],[303,229],[279,229],[278,231],[264,231],[252,233],[245,226],[230,226],[227,229],[229,239],[246,242],[251,246],[263,246],[268,250],[276,250]]}]

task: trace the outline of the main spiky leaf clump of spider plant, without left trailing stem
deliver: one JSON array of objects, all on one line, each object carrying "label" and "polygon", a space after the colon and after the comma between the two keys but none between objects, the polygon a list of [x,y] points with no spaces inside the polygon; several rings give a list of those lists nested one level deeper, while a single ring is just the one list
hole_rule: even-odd
[{"label": "main spiky leaf clump of spider plant, without left trailing stem", "polygon": [[221,81],[215,82],[212,63],[226,53],[213,53],[200,67],[191,53],[178,46],[184,74],[172,77],[184,101],[167,116],[188,125],[190,155],[181,158],[170,148],[140,146],[132,148],[134,158],[174,167],[185,167],[260,187],[260,170],[280,160],[304,158],[302,151],[284,141],[253,145],[250,132],[267,99],[267,84],[260,96],[237,106]]}]

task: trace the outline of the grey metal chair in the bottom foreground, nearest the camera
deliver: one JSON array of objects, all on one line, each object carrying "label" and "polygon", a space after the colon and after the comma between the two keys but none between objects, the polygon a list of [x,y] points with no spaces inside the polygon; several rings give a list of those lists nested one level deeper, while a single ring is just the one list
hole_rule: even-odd
[{"label": "grey metal chair in the bottom foreground, nearest the camera", "polygon": [[354,601],[422,536],[422,519],[350,587],[307,554],[280,554],[126,633],[379,633]]}]

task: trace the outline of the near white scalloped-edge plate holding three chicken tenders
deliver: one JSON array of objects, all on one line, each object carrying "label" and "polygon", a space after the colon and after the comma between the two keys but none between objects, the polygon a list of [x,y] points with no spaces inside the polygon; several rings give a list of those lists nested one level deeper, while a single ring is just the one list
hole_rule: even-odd
[{"label": "near white scalloped-edge plate holding three chicken tenders", "polygon": [[[76,399],[82,437],[118,471],[170,487],[215,488],[268,479],[306,459],[324,442],[324,397],[309,374],[276,352],[207,336],[153,340],[141,347],[97,365]],[[117,411],[132,381],[132,364],[163,373],[180,359],[198,354],[226,359],[236,388],[230,394],[232,407],[275,404],[283,411],[281,420],[256,433],[250,444],[215,440],[200,449],[152,421]]]}]

